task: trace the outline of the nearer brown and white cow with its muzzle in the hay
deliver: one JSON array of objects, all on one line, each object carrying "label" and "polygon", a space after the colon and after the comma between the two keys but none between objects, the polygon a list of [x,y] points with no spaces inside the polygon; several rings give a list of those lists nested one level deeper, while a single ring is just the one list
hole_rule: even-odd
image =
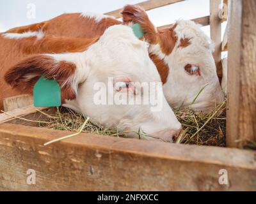
[{"label": "nearer brown and white cow with its muzzle in the hay", "polygon": [[[53,78],[60,84],[63,106],[84,113],[105,128],[128,131],[131,136],[141,129],[167,142],[180,133],[181,124],[164,98],[161,78],[148,56],[148,43],[138,40],[129,26],[113,25],[99,38],[87,39],[40,31],[2,33],[0,47],[0,99],[31,93],[38,78]],[[95,101],[102,84],[113,89],[106,90],[109,98],[119,94],[121,102],[125,96],[144,99],[147,91],[133,86],[136,82],[153,83],[152,90],[157,89],[161,99],[159,110],[153,111],[151,103]]]}]

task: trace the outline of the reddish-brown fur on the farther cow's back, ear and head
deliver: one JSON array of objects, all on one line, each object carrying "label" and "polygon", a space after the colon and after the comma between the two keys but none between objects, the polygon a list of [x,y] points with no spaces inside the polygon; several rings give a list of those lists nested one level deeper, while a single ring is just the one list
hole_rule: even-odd
[{"label": "reddish-brown fur on the farther cow's back, ear and head", "polygon": [[[140,6],[127,5],[122,10],[124,24],[140,23],[144,31],[144,38],[150,44],[159,44],[161,51],[169,55],[172,53],[175,43],[177,42],[177,36],[175,35],[174,24],[169,29],[156,29],[152,22],[150,22],[145,10],[140,8]],[[69,36],[72,38],[98,38],[104,31],[111,25],[122,24],[122,22],[115,20],[113,18],[103,18],[99,23],[90,18],[81,17],[80,13],[69,13],[63,14],[51,20],[41,22],[38,25],[33,24],[31,27],[17,27],[11,29],[13,33],[20,33],[21,31],[35,31],[42,29],[45,34],[53,34],[55,36]],[[37,29],[36,29],[37,27]],[[9,32],[9,31],[8,31]],[[189,45],[189,41],[180,41],[181,47],[186,47]],[[151,54],[153,55],[153,54]],[[159,74],[163,80],[166,82],[166,76],[168,76],[169,69],[168,65],[159,59],[156,55],[152,56],[152,60],[160,70]]]}]

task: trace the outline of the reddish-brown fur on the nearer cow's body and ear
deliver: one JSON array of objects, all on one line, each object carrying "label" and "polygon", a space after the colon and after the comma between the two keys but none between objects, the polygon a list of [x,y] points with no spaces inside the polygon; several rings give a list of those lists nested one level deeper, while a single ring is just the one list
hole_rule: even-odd
[{"label": "reddish-brown fur on the nearer cow's body and ear", "polygon": [[[62,52],[82,52],[86,50],[87,47],[92,45],[97,41],[97,38],[93,39],[85,39],[85,38],[68,38],[68,37],[54,37],[54,36],[45,36],[44,38],[37,40],[36,37],[30,38],[21,38],[21,39],[8,39],[4,38],[0,34],[0,110],[3,109],[3,98],[15,96],[18,94],[28,94],[31,93],[31,89],[33,84],[38,78],[33,78],[31,84],[28,82],[27,85],[24,86],[26,83],[22,83],[22,81],[17,81],[15,78],[14,73],[17,74],[17,77],[21,76],[22,73],[10,72],[6,75],[6,80],[8,84],[14,85],[15,82],[21,83],[19,87],[25,87],[25,89],[12,89],[12,86],[6,83],[4,80],[5,73],[10,70],[10,68],[15,67],[17,70],[22,68],[22,65],[26,67],[28,62],[35,62],[35,65],[29,66],[28,70],[33,71],[33,68],[36,68],[36,65],[39,65],[40,62],[36,61],[35,57],[33,58],[34,61],[31,61],[30,57],[33,54],[51,54],[51,53],[62,53]],[[37,55],[38,59],[42,60],[40,55]],[[21,63],[21,64],[20,64]],[[46,63],[46,62],[45,62]],[[51,62],[47,61],[45,66],[50,66]],[[66,67],[67,66],[67,67]],[[59,68],[67,69],[70,67],[70,63],[60,62]],[[13,68],[14,69],[14,68]],[[12,69],[12,70],[13,70]],[[37,69],[35,69],[36,71]],[[49,74],[51,71],[49,69],[41,70],[40,73],[45,73],[48,70]],[[38,70],[37,70],[38,71]],[[39,73],[39,72],[38,72]],[[9,76],[9,77],[8,77]],[[12,76],[12,77],[10,77]],[[49,75],[51,76],[51,75]],[[67,77],[63,75],[63,79],[59,78],[59,80],[64,80]],[[12,80],[13,79],[13,80]],[[14,84],[13,84],[14,83]],[[30,87],[29,89],[27,89]],[[70,87],[63,87],[63,91],[61,91],[62,98],[74,98],[72,90]]]}]

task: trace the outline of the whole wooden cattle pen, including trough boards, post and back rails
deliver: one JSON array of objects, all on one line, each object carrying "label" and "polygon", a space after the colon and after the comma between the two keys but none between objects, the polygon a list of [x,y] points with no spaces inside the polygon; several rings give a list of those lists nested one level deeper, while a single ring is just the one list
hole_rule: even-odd
[{"label": "whole wooden cattle pen, including trough boards, post and back rails", "polygon": [[[139,5],[152,10],[181,1]],[[120,11],[107,14],[119,18]],[[45,142],[68,132],[36,127],[38,112],[31,98],[15,96],[4,100],[6,113],[0,114],[0,191],[255,191],[256,152],[243,149],[256,142],[255,15],[254,0],[210,0],[210,15],[193,19],[211,26],[218,76],[225,77],[222,70],[228,70],[227,147],[90,133],[45,147]],[[221,41],[221,22],[226,20]],[[228,57],[221,59],[224,51]],[[47,114],[52,108],[40,111]],[[29,170],[35,170],[36,184],[27,183]],[[220,182],[223,171],[228,173],[227,184]]]}]

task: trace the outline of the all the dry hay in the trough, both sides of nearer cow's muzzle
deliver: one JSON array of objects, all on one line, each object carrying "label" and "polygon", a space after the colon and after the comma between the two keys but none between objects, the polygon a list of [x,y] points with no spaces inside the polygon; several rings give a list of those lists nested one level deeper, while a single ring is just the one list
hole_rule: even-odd
[{"label": "all the dry hay in the trough, both sides of nearer cow's muzzle", "polygon": [[[181,122],[184,129],[177,138],[173,138],[174,142],[225,147],[225,104],[226,103],[223,102],[220,105],[216,105],[216,107],[207,114],[195,113],[193,110],[174,110],[175,115]],[[43,112],[41,113],[45,114]],[[80,132],[84,132],[106,136],[127,137],[127,134],[131,133],[120,132],[115,128],[103,128],[102,126],[93,124],[90,120],[86,121],[86,117],[84,117],[83,114],[76,113],[69,108],[58,108],[55,115],[46,116],[46,121],[44,120],[44,123],[39,123],[41,127],[77,132],[72,135],[78,135]],[[147,133],[143,132],[142,129],[138,129],[137,132],[132,133],[137,135],[139,139],[154,137],[147,135]],[[66,137],[69,136],[70,135]]]}]

